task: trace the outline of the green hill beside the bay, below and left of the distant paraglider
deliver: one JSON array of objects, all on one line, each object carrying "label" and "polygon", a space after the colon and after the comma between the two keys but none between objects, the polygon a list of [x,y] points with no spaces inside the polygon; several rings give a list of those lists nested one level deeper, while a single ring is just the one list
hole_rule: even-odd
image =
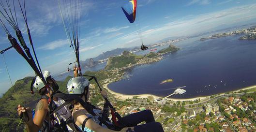
[{"label": "green hill beside the bay, below and left of the distant paraglider", "polygon": [[126,67],[130,63],[136,64],[136,62],[137,62],[136,59],[139,59],[139,58],[143,58],[143,57],[137,56],[128,51],[123,51],[123,54],[121,56],[110,57],[107,61],[105,69],[109,70],[109,69],[113,69],[113,68]]}]

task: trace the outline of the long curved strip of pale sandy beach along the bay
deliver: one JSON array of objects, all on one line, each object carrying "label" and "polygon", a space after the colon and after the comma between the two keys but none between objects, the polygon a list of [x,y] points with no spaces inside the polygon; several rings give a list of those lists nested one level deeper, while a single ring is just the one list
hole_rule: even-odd
[{"label": "long curved strip of pale sandy beach along the bay", "polygon": [[[112,95],[114,95],[114,97],[115,97],[116,99],[126,100],[126,99],[132,99],[132,98],[135,97],[135,96],[137,96],[138,98],[148,98],[149,96],[154,97],[154,99],[163,98],[163,97],[156,96],[156,95],[152,95],[152,94],[126,95],[126,94],[117,93],[117,92],[114,92],[114,91],[110,90],[110,89],[107,87],[108,84],[110,84],[110,83],[104,84],[104,85],[103,85],[103,88],[107,89]],[[256,85],[244,87],[244,88],[237,89],[237,90],[226,91],[226,92],[239,92],[240,90],[246,90],[246,89],[252,89],[252,88],[256,88]],[[184,99],[167,98],[167,100],[169,100],[169,101],[195,101],[195,100],[200,99],[201,101],[203,101],[203,100],[208,100],[208,99],[210,99],[211,96],[213,96],[213,95],[218,95],[218,94],[224,95],[225,93],[217,93],[217,94],[212,94],[212,95],[208,95],[208,96],[200,96],[200,97],[184,98]]]}]

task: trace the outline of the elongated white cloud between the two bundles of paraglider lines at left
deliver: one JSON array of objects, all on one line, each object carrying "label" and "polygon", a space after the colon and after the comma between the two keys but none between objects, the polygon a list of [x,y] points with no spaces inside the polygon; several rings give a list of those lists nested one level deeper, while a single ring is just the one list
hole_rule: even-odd
[{"label": "elongated white cloud between the two bundles of paraglider lines at left", "polygon": [[43,46],[39,47],[38,49],[42,50],[54,50],[56,48],[62,47],[64,45],[68,45],[69,41],[68,40],[56,40],[47,44],[44,44]]}]

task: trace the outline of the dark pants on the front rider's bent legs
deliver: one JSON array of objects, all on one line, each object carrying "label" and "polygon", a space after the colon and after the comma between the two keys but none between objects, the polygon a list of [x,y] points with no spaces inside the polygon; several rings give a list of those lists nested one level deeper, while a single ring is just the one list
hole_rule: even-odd
[{"label": "dark pants on the front rider's bent legs", "polygon": [[[138,125],[145,121],[146,124]],[[162,125],[155,122],[151,110],[144,110],[122,117],[118,123],[125,127],[134,127],[135,132],[164,132]]]}]

